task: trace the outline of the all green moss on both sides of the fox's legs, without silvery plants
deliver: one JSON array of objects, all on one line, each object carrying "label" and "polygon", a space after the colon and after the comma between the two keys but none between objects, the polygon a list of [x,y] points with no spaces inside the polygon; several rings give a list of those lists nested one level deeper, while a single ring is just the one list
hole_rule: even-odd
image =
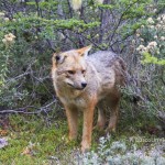
[{"label": "all green moss on both sides of the fox's legs, without silvery plants", "polygon": [[[138,117],[138,116],[136,116]],[[0,164],[56,164],[56,161],[69,161],[70,153],[76,148],[78,151],[81,141],[82,119],[79,122],[78,140],[68,142],[67,121],[65,119],[50,119],[38,116],[11,116],[8,130],[9,145],[0,150]],[[146,117],[139,116],[134,121],[127,113],[120,118],[118,130],[110,135],[106,147],[116,141],[122,141],[128,147],[136,145],[141,148],[147,145],[147,142],[130,142],[130,138],[153,139],[147,132],[147,128],[154,127],[156,121],[146,120]],[[147,121],[147,122],[146,122]],[[99,144],[99,138],[105,135],[97,130],[92,133],[91,150],[96,151]]]}]

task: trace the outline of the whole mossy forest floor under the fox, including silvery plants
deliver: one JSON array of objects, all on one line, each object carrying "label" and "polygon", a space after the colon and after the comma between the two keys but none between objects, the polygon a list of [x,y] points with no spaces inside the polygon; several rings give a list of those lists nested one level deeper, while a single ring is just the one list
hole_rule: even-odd
[{"label": "whole mossy forest floor under the fox, including silvery plants", "polygon": [[[145,120],[143,117],[132,120],[121,118],[117,132],[105,138],[103,142],[100,142],[102,133],[94,131],[90,156],[79,152],[81,122],[76,142],[68,142],[67,131],[65,118],[52,119],[25,114],[3,117],[0,119],[0,165],[99,164],[99,162],[108,165],[118,164],[117,160],[119,162],[120,157],[123,161],[123,155],[130,158],[131,154],[134,154],[133,160],[135,156],[141,158],[138,161],[139,164],[142,164],[142,160],[154,156],[160,163],[150,160],[147,162],[151,162],[151,165],[165,164],[165,132],[153,120]],[[110,153],[112,150],[116,152]],[[116,163],[111,163],[110,160]],[[128,162],[133,164],[130,160]]]}]

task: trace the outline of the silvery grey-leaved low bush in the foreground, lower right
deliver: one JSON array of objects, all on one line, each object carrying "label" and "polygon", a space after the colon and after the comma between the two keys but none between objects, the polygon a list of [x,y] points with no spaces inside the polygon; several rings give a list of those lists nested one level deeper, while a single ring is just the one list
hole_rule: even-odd
[{"label": "silvery grey-leaved low bush in the foreground, lower right", "polygon": [[96,152],[91,151],[82,155],[81,164],[108,164],[108,165],[163,165],[165,157],[161,145],[153,148],[136,148],[136,144],[128,146],[123,141],[110,142],[110,136],[100,138],[100,143]]}]

